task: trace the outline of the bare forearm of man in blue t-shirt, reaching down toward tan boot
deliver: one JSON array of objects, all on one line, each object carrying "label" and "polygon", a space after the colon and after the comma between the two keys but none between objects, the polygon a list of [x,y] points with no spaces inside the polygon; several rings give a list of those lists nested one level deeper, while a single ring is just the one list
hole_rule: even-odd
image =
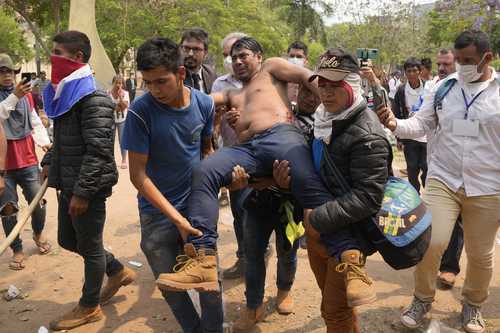
[{"label": "bare forearm of man in blue t-shirt, reaching down toward tan boot", "polygon": [[129,151],[130,181],[134,187],[154,207],[158,208],[179,229],[184,240],[187,236],[201,236],[201,231],[194,229],[181,213],[163,196],[146,174],[148,155]]}]

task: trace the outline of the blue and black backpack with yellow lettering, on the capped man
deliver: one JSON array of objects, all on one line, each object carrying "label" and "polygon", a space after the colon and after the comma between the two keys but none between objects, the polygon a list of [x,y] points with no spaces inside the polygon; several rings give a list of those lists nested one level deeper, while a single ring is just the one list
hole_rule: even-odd
[{"label": "blue and black backpack with yellow lettering, on the capped man", "polygon": [[[328,155],[323,142],[326,167],[347,193],[350,186]],[[355,223],[366,241],[396,270],[410,268],[424,257],[431,240],[431,213],[415,188],[406,180],[390,176],[379,212],[367,223]]]}]

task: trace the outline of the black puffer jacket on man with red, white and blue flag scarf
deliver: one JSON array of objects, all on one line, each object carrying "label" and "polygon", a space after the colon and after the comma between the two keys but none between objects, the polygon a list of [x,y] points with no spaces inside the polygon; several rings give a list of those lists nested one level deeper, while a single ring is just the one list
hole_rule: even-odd
[{"label": "black puffer jacket on man with red, white and blue flag scarf", "polygon": [[114,108],[106,93],[96,91],[54,120],[54,143],[42,160],[50,166],[50,187],[87,200],[111,195],[118,181]]}]

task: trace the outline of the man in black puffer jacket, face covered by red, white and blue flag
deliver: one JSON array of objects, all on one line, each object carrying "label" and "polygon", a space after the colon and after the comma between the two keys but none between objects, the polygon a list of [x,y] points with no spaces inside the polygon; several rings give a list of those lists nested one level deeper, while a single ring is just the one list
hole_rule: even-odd
[{"label": "man in black puffer jacket, face covered by red, white and blue flag", "polygon": [[[84,284],[78,305],[52,321],[52,330],[70,330],[103,318],[100,304],[135,272],[104,250],[106,199],[118,181],[114,158],[114,109],[111,98],[96,90],[88,64],[91,46],[79,31],[53,38],[51,84],[43,92],[45,111],[54,121],[54,144],[45,154],[43,177],[60,191],[58,242],[84,260]],[[104,274],[108,276],[101,290]]]}]

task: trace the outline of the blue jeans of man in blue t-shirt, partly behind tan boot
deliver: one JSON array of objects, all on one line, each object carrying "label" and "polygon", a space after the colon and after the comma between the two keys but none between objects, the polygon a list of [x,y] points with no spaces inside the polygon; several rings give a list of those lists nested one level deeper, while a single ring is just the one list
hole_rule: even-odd
[{"label": "blue jeans of man in blue t-shirt, partly behind tan boot", "polygon": [[[156,278],[172,273],[176,257],[182,253],[182,241],[177,228],[163,214],[141,214],[141,249]],[[220,292],[200,293],[202,315],[186,292],[162,291],[177,322],[185,333],[222,332],[223,308]]]}]

